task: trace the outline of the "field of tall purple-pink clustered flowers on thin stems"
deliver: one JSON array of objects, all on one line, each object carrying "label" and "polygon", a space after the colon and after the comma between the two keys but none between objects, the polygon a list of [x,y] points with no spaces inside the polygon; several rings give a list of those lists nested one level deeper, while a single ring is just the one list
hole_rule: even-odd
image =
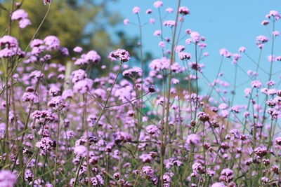
[{"label": "field of tall purple-pink clustered flowers on thin stems", "polygon": [[[37,37],[55,1],[41,1],[44,17],[27,45],[25,1],[0,4],[8,15],[0,35],[1,187],[281,186],[277,11],[261,15],[253,43],[209,54],[202,31],[185,25],[188,1],[171,8],[151,1],[148,10],[136,1],[135,20],[122,23],[138,32],[136,53],[119,46],[106,58],[95,48],[66,48],[58,36]],[[150,25],[158,29],[143,32]],[[147,44],[159,52],[149,61],[147,34],[159,39]],[[224,63],[232,64],[229,81]]]}]

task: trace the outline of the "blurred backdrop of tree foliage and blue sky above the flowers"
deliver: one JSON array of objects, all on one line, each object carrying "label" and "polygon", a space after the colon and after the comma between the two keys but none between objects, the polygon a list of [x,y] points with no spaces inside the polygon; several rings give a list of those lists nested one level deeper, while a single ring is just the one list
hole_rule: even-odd
[{"label": "blurred backdrop of tree foliage and blue sky above the flowers", "polygon": [[[163,16],[165,20],[174,20],[176,13],[166,15],[165,9],[168,7],[176,9],[176,1],[163,1],[162,7]],[[8,6],[11,1],[1,1],[2,4]],[[153,7],[152,0],[54,0],[51,5],[51,11],[48,18],[44,22],[36,38],[44,39],[45,36],[58,36],[61,46],[65,46],[72,53],[75,46],[81,46],[84,51],[96,50],[103,58],[103,64],[109,64],[107,55],[110,51],[117,48],[124,48],[129,50],[133,59],[129,65],[140,66],[139,58],[139,30],[134,23],[137,23],[137,17],[132,13],[134,6],[141,7],[141,22],[148,23],[143,27],[143,48],[145,51],[145,71],[148,72],[148,63],[153,58],[162,57],[161,48],[158,43],[159,37],[153,36],[156,29],[159,29],[159,21],[157,20],[157,9]],[[247,54],[257,60],[259,57],[259,48],[256,47],[256,36],[269,36],[271,27],[268,28],[261,25],[265,20],[265,15],[270,10],[281,12],[280,0],[236,0],[236,1],[181,1],[181,6],[187,6],[190,9],[190,15],[185,16],[183,25],[183,34],[185,29],[192,29],[192,31],[199,32],[205,36],[207,48],[205,52],[210,54],[202,60],[205,64],[204,75],[209,78],[208,81],[214,81],[221,57],[218,51],[221,48],[227,48],[232,53],[238,53],[238,48],[245,46]],[[41,20],[47,11],[48,6],[44,6],[39,0],[24,1],[22,6],[27,13],[32,25],[23,29],[20,36],[22,45],[27,46],[32,34],[36,31]],[[145,11],[151,8],[152,15],[146,15]],[[127,18],[131,24],[124,25],[123,20]],[[149,24],[150,18],[155,18],[155,24]],[[0,31],[3,34],[6,29],[7,14],[0,10]],[[2,27],[2,25],[4,27]],[[275,27],[280,30],[280,24]],[[15,31],[17,36],[18,31]],[[2,35],[3,35],[2,34]],[[171,31],[164,30],[164,38],[171,37]],[[186,36],[180,44],[184,45]],[[186,46],[186,52],[194,54],[194,49]],[[280,42],[277,41],[274,49],[275,55],[281,55]],[[269,62],[267,60],[270,55],[270,42],[266,43],[262,53],[261,67],[269,69]],[[72,56],[72,55],[70,55]],[[65,63],[65,62],[60,62]],[[237,77],[237,96],[243,96],[244,88],[249,88],[250,81],[245,74],[249,69],[255,70],[253,62],[247,57],[242,57],[238,61],[240,69],[238,69],[239,76]],[[275,78],[280,80],[281,73],[280,62],[275,62]],[[93,68],[92,78],[100,76],[110,71],[110,68],[100,69],[100,67]],[[234,80],[234,65],[230,60],[223,62],[222,72],[224,76],[221,77],[223,81],[228,81],[230,84],[229,91],[233,87]],[[268,80],[268,75],[261,74],[259,79]],[[201,92],[208,92],[208,81],[202,78],[200,81]],[[183,85],[184,86],[184,85]],[[244,102],[243,97],[235,97],[237,104]]]}]

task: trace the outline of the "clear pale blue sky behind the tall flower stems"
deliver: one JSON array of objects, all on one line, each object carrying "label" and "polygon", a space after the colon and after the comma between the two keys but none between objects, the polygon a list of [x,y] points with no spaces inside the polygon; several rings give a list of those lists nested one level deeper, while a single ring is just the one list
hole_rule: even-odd
[{"label": "clear pale blue sky behind the tall flower stems", "polygon": [[[128,18],[130,22],[137,22],[137,17],[132,13],[132,8],[134,6],[141,7],[141,22],[148,22],[150,15],[146,15],[145,11],[148,8],[151,8],[155,15],[157,15],[157,9],[153,7],[153,2],[151,0],[142,0],[142,1],[129,1],[129,0],[119,0],[115,3],[110,4],[110,9],[112,11],[119,11],[124,18]],[[177,1],[163,1],[164,9],[171,7],[176,9]],[[280,0],[235,0],[235,1],[226,1],[226,0],[205,0],[205,1],[187,1],[182,0],[181,6],[187,6],[190,9],[190,15],[185,17],[185,23],[183,25],[183,31],[185,29],[192,29],[192,31],[199,32],[202,36],[205,36],[207,51],[210,56],[205,58],[202,63],[206,65],[204,69],[204,74],[209,78],[209,81],[213,81],[216,77],[216,72],[218,69],[219,62],[221,57],[218,51],[221,48],[226,48],[232,53],[238,53],[238,48],[245,46],[247,48],[247,53],[254,59],[257,60],[259,57],[259,48],[256,47],[255,41],[256,36],[265,35],[268,36],[268,30],[266,27],[261,25],[263,20],[266,20],[265,15],[271,10],[276,10],[281,12]],[[169,15],[166,20],[173,20],[176,13]],[[281,20],[277,22],[275,30],[280,30]],[[138,35],[138,28],[133,25],[120,25],[119,28],[125,29],[126,33],[131,36]],[[268,28],[271,30],[271,26]],[[143,36],[143,46],[145,50],[148,50],[153,53],[155,57],[161,57],[160,49],[158,47],[159,38],[153,36],[153,33],[156,29],[159,29],[159,22],[155,22],[155,25],[146,25],[143,28],[145,33]],[[164,33],[164,36],[169,36],[168,32]],[[184,39],[185,40],[185,39]],[[183,40],[183,41],[184,41]],[[275,55],[281,55],[280,48],[280,39],[276,40]],[[267,56],[270,55],[270,46],[271,43],[266,43],[263,50],[261,67],[263,69],[269,69],[269,62]],[[189,47],[186,48],[186,52],[193,53],[192,49]],[[249,69],[256,69],[253,62],[247,57],[242,57],[240,62],[238,62],[240,67],[247,71]],[[274,71],[278,69],[281,70],[281,62],[275,62]],[[229,81],[230,84],[233,83],[234,77],[234,66],[231,64],[230,60],[225,60],[223,62],[222,72],[225,74],[224,81]],[[262,71],[259,71],[260,76],[258,79],[261,79],[263,83],[266,83],[268,80],[268,75],[263,74]],[[281,74],[281,73],[280,73]],[[275,77],[280,76],[276,74]],[[239,69],[237,76],[237,85],[247,81],[247,76]],[[274,81],[279,81],[280,78],[276,78]],[[202,92],[207,91],[207,85],[204,84],[204,81],[201,81],[200,86]],[[231,86],[231,85],[230,85]],[[235,102],[242,104],[245,100],[243,90],[244,88],[250,87],[249,83],[240,86],[237,89],[237,96],[235,97]]]}]

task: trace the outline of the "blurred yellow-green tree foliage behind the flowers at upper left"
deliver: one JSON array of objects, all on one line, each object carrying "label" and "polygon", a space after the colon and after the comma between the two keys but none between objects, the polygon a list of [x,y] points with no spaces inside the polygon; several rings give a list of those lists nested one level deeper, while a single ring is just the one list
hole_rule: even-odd
[{"label": "blurred yellow-green tree foliage behind the flowers at upper left", "polygon": [[[81,46],[84,51],[96,50],[103,59],[103,64],[109,64],[107,55],[116,48],[126,48],[138,58],[138,38],[129,38],[122,31],[116,32],[115,36],[107,32],[115,28],[115,25],[122,22],[119,13],[108,10],[110,1],[89,1],[89,0],[53,0],[50,11],[44,24],[35,36],[37,39],[44,39],[48,35],[58,36],[61,46],[70,50],[75,46]],[[11,1],[5,0],[3,6],[10,9]],[[25,29],[18,29],[18,21],[12,24],[12,35],[20,36],[20,46],[25,49],[33,34],[41,24],[47,10],[48,4],[44,5],[40,0],[23,1],[21,9],[29,13],[32,25]],[[0,32],[7,34],[9,13],[0,9]],[[115,40],[113,40],[115,38]],[[150,57],[150,55],[146,55]],[[63,63],[63,62],[60,62]],[[99,67],[97,67],[99,69]]]}]

